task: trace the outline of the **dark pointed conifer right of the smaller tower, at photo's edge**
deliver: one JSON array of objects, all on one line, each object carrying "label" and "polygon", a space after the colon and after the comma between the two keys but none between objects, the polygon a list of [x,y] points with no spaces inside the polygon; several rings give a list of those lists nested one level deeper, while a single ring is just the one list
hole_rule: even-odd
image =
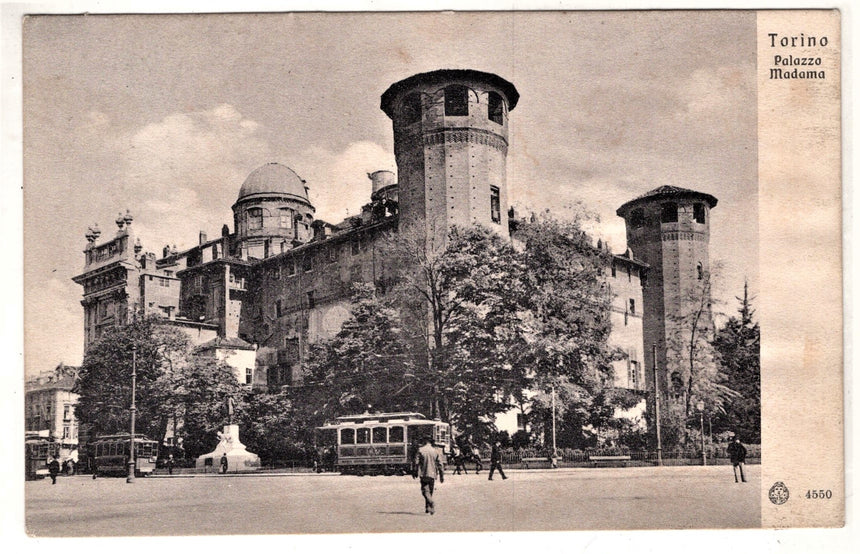
[{"label": "dark pointed conifer right of the smaller tower, at photo's edge", "polygon": [[714,339],[726,381],[739,396],[714,421],[714,431],[734,431],[744,442],[761,442],[761,332],[744,283],[738,315],[717,331]]}]

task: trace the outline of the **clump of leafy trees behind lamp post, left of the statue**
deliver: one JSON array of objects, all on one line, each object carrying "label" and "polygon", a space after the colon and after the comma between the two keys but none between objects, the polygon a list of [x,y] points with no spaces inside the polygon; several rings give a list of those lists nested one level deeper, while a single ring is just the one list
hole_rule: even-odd
[{"label": "clump of leafy trees behind lamp post, left of the statue", "polygon": [[135,432],[163,441],[168,424],[180,421],[187,455],[211,450],[227,422],[226,399],[242,409],[244,389],[228,366],[195,356],[188,336],[157,318],[108,329],[87,349],[75,384],[81,424],[96,436],[128,432],[133,357]]}]

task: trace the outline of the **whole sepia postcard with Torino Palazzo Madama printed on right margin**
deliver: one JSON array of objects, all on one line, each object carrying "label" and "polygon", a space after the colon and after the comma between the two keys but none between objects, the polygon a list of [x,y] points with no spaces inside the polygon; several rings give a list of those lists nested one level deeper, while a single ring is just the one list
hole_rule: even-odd
[{"label": "whole sepia postcard with Torino Palazzo Madama printed on right margin", "polygon": [[839,26],[26,14],[22,532],[842,526]]}]

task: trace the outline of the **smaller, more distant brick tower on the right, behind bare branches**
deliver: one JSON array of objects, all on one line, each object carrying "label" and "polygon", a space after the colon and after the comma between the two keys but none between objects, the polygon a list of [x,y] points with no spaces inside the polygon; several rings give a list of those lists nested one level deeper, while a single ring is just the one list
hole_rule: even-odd
[{"label": "smaller, more distant brick tower on the right, behind bare branches", "polygon": [[[689,354],[679,342],[690,334],[690,314],[704,306],[700,332],[713,330],[708,283],[710,194],[664,186],[635,198],[617,210],[627,227],[627,246],[650,268],[642,291],[645,375],[654,390],[654,348],[657,351],[661,402],[679,402],[678,390],[689,379]],[[703,301],[703,291],[706,291]],[[698,310],[702,311],[702,310]],[[682,333],[686,333],[685,335]]]}]

